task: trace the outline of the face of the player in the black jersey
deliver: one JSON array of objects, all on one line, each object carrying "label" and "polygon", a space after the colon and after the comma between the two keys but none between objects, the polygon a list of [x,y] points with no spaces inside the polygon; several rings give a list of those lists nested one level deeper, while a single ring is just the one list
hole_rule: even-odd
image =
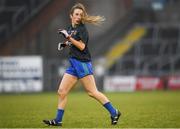
[{"label": "face of the player in the black jersey", "polygon": [[74,12],[70,15],[71,22],[74,25],[78,25],[81,23],[83,16],[83,11],[81,9],[75,9]]}]

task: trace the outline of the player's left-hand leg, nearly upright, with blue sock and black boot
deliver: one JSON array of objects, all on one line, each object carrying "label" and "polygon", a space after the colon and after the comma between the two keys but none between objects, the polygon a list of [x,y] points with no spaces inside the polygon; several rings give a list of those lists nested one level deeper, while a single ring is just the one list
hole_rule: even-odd
[{"label": "player's left-hand leg, nearly upright, with blue sock and black boot", "polygon": [[44,120],[43,122],[48,125],[61,126],[64,109],[67,103],[67,95],[72,87],[77,82],[77,77],[65,73],[58,89],[58,109],[56,118],[53,120]]}]

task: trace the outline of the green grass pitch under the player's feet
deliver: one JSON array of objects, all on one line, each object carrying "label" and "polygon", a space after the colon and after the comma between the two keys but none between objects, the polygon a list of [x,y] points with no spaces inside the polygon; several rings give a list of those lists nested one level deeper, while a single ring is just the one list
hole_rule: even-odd
[{"label": "green grass pitch under the player's feet", "polygon": [[[180,128],[180,91],[105,95],[122,112],[118,125],[85,92],[71,92],[62,128]],[[0,94],[0,128],[49,128],[42,120],[54,118],[56,106],[56,92]]]}]

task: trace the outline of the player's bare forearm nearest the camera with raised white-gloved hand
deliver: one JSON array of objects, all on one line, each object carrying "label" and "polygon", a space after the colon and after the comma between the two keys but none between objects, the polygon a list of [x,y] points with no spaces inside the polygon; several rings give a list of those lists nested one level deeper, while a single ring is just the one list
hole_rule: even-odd
[{"label": "player's bare forearm nearest the camera with raised white-gloved hand", "polygon": [[79,50],[83,51],[85,48],[85,43],[83,43],[81,40],[77,41],[74,38],[71,37],[71,35],[69,35],[67,33],[66,30],[59,30],[60,34],[62,34],[68,41],[70,41],[74,46],[76,46]]}]

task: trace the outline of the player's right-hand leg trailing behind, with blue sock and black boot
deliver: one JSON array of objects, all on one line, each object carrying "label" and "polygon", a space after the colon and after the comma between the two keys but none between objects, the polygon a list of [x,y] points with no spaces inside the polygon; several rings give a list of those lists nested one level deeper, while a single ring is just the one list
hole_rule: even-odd
[{"label": "player's right-hand leg trailing behind, with blue sock and black boot", "polygon": [[111,114],[112,124],[117,124],[120,117],[120,112],[115,109],[110,103],[109,99],[101,92],[98,91],[93,75],[87,75],[80,79],[83,86],[85,87],[89,96],[98,100]]}]

